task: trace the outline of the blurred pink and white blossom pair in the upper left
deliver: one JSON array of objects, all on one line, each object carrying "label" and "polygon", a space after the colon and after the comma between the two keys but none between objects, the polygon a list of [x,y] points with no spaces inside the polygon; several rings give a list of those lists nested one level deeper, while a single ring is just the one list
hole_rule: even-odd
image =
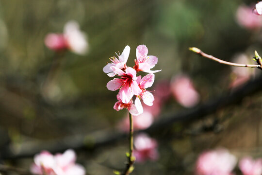
[{"label": "blurred pink and white blossom pair in the upper left", "polygon": [[87,36],[80,31],[79,24],[76,21],[68,21],[63,34],[48,34],[45,38],[45,44],[55,52],[68,49],[73,53],[83,55],[88,50]]}]

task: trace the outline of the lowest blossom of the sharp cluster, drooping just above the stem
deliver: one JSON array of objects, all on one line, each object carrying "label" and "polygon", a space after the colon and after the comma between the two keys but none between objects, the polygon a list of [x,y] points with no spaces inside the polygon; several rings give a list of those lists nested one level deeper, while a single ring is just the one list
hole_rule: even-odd
[{"label": "lowest blossom of the sharp cluster, drooping just above the stem", "polygon": [[137,115],[139,115],[143,112],[143,109],[141,110],[135,104],[133,104],[132,100],[130,100],[129,103],[125,104],[125,103],[122,102],[122,100],[120,99],[118,94],[116,95],[116,98],[117,98],[118,101],[115,103],[115,105],[113,107],[116,111],[119,111],[119,110],[126,108],[126,109],[128,109],[128,111],[133,116],[137,116]]}]

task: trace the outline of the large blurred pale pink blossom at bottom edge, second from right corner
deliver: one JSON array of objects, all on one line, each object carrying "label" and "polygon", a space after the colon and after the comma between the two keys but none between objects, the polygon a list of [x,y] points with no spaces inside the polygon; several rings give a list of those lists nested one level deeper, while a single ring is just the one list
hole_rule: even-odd
[{"label": "large blurred pale pink blossom at bottom edge, second from right corner", "polygon": [[237,158],[225,149],[202,153],[196,163],[197,175],[232,175]]}]

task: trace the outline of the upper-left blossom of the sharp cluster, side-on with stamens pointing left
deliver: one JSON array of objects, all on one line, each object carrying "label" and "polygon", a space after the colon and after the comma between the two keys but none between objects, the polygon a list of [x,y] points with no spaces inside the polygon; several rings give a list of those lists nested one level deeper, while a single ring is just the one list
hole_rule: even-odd
[{"label": "upper-left blossom of the sharp cluster, side-on with stamens pointing left", "polygon": [[130,53],[130,47],[129,46],[126,46],[125,49],[123,50],[123,52],[121,53],[121,55],[117,55],[118,56],[118,59],[113,56],[110,58],[110,61],[111,63],[108,63],[104,68],[103,68],[103,71],[105,73],[107,73],[108,76],[110,77],[114,77],[116,72],[114,72],[111,67],[114,66],[116,68],[119,68],[121,70],[125,70],[127,68],[127,60],[128,60],[128,57],[129,57],[129,53]]}]

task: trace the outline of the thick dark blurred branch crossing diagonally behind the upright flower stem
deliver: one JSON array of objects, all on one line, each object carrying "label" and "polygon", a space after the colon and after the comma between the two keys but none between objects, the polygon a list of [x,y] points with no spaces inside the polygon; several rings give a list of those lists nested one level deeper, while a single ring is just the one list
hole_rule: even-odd
[{"label": "thick dark blurred branch crossing diagonally behind the upright flower stem", "polygon": [[[226,108],[229,105],[240,103],[246,96],[258,93],[262,90],[262,76],[250,80],[242,87],[229,89],[226,93],[218,98],[212,98],[206,103],[199,105],[192,109],[187,109],[176,114],[170,114],[163,119],[155,122],[151,127],[136,131],[154,133],[160,129],[172,126],[177,122],[193,122],[204,118],[209,114],[213,114],[219,109]],[[14,150],[9,146],[7,150],[1,150],[1,157],[3,159],[14,159],[22,157],[33,157],[41,150],[49,150],[52,153],[63,152],[68,148],[75,150],[95,150],[99,147],[115,144],[117,141],[127,138],[127,133],[113,132],[113,131],[98,131],[90,135],[78,135],[66,137],[64,139],[50,140],[50,141],[30,141],[21,144],[19,149]]]}]

